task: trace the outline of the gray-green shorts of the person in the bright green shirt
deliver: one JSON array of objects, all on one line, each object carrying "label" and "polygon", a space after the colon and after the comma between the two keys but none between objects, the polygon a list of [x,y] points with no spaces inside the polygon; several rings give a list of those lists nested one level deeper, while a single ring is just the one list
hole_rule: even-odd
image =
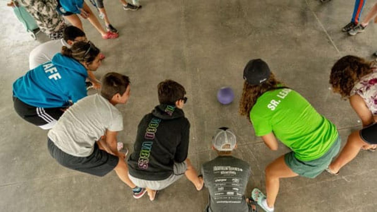
[{"label": "gray-green shorts of the person in the bright green shirt", "polygon": [[341,139],[338,136],[333,146],[324,155],[311,161],[300,161],[294,157],[294,152],[288,152],[284,155],[285,164],[300,176],[315,178],[329,166],[333,158],[338,154],[340,143]]}]

